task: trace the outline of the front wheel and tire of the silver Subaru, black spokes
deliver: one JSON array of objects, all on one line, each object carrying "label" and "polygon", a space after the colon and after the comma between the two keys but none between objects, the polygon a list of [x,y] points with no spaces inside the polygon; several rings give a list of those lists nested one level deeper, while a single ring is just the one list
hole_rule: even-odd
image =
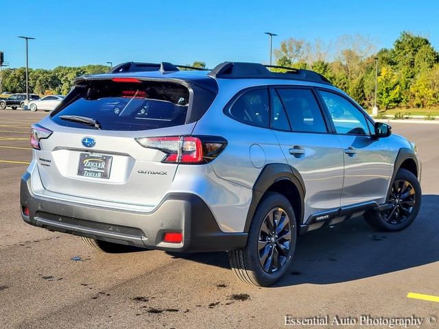
[{"label": "front wheel and tire of the silver Subaru, black spokes", "polygon": [[379,231],[396,232],[410,226],[418,215],[421,204],[421,189],[416,176],[408,170],[399,169],[390,186],[386,202],[392,204],[383,212],[370,211],[365,219]]}]

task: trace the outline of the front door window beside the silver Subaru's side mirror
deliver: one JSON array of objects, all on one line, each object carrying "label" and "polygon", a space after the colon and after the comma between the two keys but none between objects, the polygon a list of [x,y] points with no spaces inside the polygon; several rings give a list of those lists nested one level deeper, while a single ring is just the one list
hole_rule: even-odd
[{"label": "front door window beside the silver Subaru's side mirror", "polygon": [[320,95],[326,103],[331,114],[331,119],[335,125],[337,134],[348,135],[368,135],[368,123],[363,112],[356,108],[353,103],[346,98],[320,90]]}]

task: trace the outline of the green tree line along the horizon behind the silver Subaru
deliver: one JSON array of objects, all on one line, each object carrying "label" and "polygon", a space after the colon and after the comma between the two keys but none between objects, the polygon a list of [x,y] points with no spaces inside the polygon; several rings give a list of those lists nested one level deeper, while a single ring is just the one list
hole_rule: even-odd
[{"label": "green tree line along the horizon behind the silver Subaru", "polygon": [[[288,38],[274,50],[276,65],[311,69],[327,77],[364,108],[375,103],[378,59],[377,105],[390,108],[439,106],[439,53],[429,40],[402,32],[390,49],[376,51],[375,42],[364,36],[343,36],[324,43]],[[205,68],[205,62],[191,66]],[[106,73],[104,65],[58,66],[53,70],[29,69],[29,90],[40,95],[67,94],[80,75]],[[3,70],[3,90],[25,92],[25,68]]]}]

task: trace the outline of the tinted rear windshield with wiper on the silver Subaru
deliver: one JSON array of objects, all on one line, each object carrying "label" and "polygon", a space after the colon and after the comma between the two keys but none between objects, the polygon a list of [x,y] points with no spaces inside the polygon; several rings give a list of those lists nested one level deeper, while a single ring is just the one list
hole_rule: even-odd
[{"label": "tinted rear windshield with wiper on the silver Subaru", "polygon": [[102,130],[149,130],[185,124],[188,107],[189,90],[181,84],[88,80],[75,86],[51,118],[67,127],[96,129],[75,122],[85,117]]}]

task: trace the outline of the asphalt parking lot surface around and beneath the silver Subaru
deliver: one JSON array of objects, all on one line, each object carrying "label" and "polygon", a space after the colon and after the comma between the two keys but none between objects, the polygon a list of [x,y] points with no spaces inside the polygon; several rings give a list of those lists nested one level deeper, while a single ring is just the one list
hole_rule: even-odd
[{"label": "asphalt parking lot surface around and beneath the silver Subaru", "polygon": [[1,328],[279,328],[285,315],[414,315],[439,328],[427,324],[439,302],[407,298],[439,296],[439,125],[392,124],[423,160],[423,206],[410,228],[375,232],[355,219],[310,232],[289,275],[262,289],[237,282],[224,253],[98,254],[78,237],[25,224],[29,125],[46,114],[0,111]]}]

